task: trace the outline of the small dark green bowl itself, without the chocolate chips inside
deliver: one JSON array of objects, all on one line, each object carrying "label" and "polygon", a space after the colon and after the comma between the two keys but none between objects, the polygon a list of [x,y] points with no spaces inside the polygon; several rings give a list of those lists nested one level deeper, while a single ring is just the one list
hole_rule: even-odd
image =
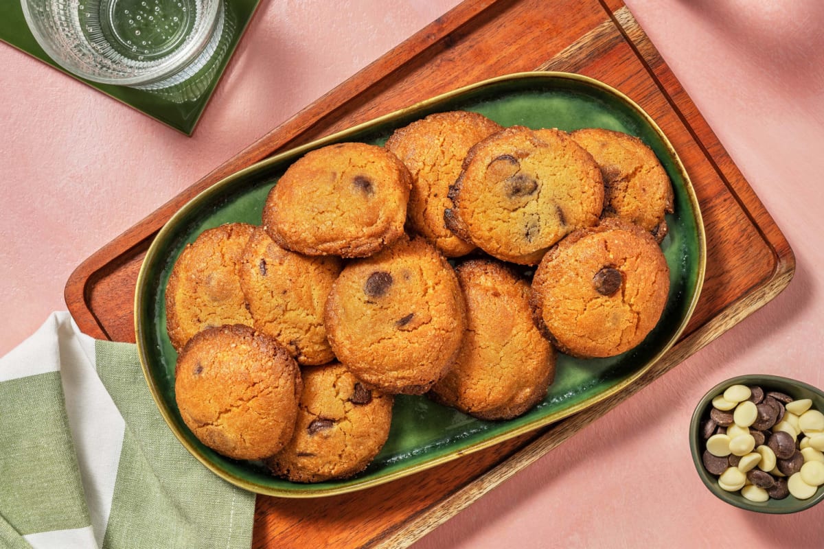
[{"label": "small dark green bowl itself, without the chocolate chips inside", "polygon": [[780,391],[788,394],[795,400],[801,398],[809,398],[812,400],[812,407],[820,412],[824,412],[824,392],[821,389],[812,387],[796,381],[794,379],[782,378],[777,375],[739,375],[736,378],[727,379],[722,383],[716,385],[701,398],[698,406],[695,407],[695,412],[692,414],[690,421],[690,450],[692,453],[692,461],[695,463],[695,470],[698,471],[698,476],[705,486],[711,491],[719,500],[726,501],[730,505],[735,505],[741,509],[748,511],[755,511],[756,513],[770,513],[770,514],[789,514],[809,509],[816,505],[821,500],[824,500],[824,486],[818,486],[815,495],[807,500],[798,500],[794,495],[788,495],[783,500],[766,500],[763,502],[747,500],[740,491],[728,492],[719,486],[718,477],[708,472],[704,463],[701,460],[702,454],[706,449],[704,437],[701,434],[701,423],[709,412],[709,407],[712,406],[712,400],[715,396],[723,393],[725,388],[730,385],[758,385],[766,391]]}]

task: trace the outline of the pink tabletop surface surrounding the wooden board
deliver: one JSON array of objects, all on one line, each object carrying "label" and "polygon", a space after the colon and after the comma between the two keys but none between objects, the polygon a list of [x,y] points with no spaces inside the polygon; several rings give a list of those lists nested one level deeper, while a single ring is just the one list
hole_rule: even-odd
[{"label": "pink tabletop surface surrounding the wooden board", "polygon": [[[416,549],[824,543],[824,505],[715,499],[686,437],[695,402],[734,375],[824,387],[824,3],[625,2],[784,231],[794,280]],[[456,3],[263,0],[194,137],[0,44],[0,355],[66,308],[83,259]]]}]

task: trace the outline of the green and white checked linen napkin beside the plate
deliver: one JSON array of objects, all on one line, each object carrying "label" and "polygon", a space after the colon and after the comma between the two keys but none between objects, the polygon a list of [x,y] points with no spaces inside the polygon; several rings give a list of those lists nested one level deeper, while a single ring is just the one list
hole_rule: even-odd
[{"label": "green and white checked linen napkin beside the plate", "polygon": [[60,312],[0,358],[0,547],[250,547],[254,512],[171,433],[134,345]]}]

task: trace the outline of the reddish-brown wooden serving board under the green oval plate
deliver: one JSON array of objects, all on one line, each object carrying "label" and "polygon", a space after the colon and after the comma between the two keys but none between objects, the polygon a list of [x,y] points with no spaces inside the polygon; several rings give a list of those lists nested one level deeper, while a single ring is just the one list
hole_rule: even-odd
[{"label": "reddish-brown wooden serving board under the green oval plate", "polygon": [[354,495],[259,496],[252,547],[406,547],[480,495],[671,370],[789,284],[787,240],[620,0],[467,0],[98,250],[69,278],[83,332],[133,342],[133,295],[153,236],[195,194],[281,151],[485,78],[579,72],[629,95],[690,174],[707,269],[675,347],[625,391],[553,426]]}]

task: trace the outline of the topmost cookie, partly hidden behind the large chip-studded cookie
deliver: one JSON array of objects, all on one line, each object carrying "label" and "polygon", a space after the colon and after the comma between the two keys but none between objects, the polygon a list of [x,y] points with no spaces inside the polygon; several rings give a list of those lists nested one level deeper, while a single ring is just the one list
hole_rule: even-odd
[{"label": "topmost cookie, partly hidden behind the large chip-studded cookie", "polygon": [[447,229],[443,212],[452,207],[449,186],[461,174],[470,147],[503,129],[482,114],[450,111],[428,115],[392,133],[386,148],[395,153],[412,174],[407,211],[410,227],[434,244],[447,258],[468,254],[474,244]]}]

